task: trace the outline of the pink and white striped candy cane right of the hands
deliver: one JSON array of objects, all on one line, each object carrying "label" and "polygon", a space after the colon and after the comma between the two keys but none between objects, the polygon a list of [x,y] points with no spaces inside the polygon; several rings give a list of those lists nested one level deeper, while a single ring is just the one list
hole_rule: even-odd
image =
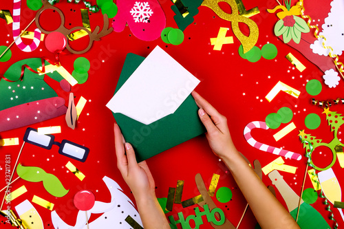
[{"label": "pink and white striped candy cane right of the hands", "polygon": [[255,128],[269,129],[269,127],[266,125],[266,122],[255,121],[255,122],[248,123],[244,129],[244,137],[245,137],[246,141],[248,142],[248,144],[250,144],[251,146],[253,146],[257,149],[260,149],[261,151],[266,151],[268,153],[273,153],[276,155],[280,155],[282,157],[292,158],[294,160],[301,160],[302,156],[299,153],[286,151],[284,149],[278,149],[274,146],[268,146],[267,144],[257,142],[251,136],[251,130],[255,129]]}]

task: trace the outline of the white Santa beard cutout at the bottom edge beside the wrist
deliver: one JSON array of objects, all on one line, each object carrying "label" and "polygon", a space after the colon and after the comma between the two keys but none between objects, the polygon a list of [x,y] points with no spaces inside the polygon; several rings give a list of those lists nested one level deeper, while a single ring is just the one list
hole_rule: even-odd
[{"label": "white Santa beard cutout at the bottom edge beside the wrist", "polygon": [[[109,228],[109,226],[115,226],[116,228],[131,228],[129,223],[125,221],[128,215],[142,226],[138,211],[133,207],[133,203],[127,195],[122,193],[122,188],[120,188],[113,179],[107,176],[103,177],[103,181],[111,193],[111,202],[103,203],[96,201],[94,207],[87,210],[87,219],[89,219],[91,213],[104,212],[98,219],[89,223],[89,227]],[[55,229],[87,229],[87,219],[85,219],[85,211],[80,210],[75,226],[69,226],[57,215],[56,211],[52,211],[52,224]]]}]

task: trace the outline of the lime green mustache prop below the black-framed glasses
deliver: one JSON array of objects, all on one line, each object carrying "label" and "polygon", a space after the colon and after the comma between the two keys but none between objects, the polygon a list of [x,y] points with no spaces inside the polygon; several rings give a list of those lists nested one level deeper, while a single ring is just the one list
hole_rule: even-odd
[{"label": "lime green mustache prop below the black-framed glasses", "polygon": [[63,197],[69,191],[65,189],[60,180],[50,173],[46,173],[42,168],[33,166],[17,166],[17,174],[21,179],[28,182],[43,182],[43,186],[48,193],[54,197]]}]

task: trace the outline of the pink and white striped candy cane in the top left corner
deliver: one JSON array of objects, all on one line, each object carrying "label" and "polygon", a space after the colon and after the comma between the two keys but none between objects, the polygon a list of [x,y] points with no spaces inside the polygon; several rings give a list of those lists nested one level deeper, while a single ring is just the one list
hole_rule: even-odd
[{"label": "pink and white striped candy cane in the top left corner", "polygon": [[[13,23],[12,23],[12,30],[13,30],[13,39],[17,39],[17,37],[21,34],[21,0],[14,0],[13,1]],[[21,41],[21,37],[19,37],[16,41],[16,45],[19,49],[23,52],[32,52],[36,50],[41,42],[41,30],[36,29],[34,30],[34,41],[30,45],[25,45],[23,41]]]}]

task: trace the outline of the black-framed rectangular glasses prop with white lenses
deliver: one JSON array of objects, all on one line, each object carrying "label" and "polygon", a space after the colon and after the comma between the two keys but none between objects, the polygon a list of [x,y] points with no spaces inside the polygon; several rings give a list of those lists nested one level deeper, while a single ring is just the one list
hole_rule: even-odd
[{"label": "black-framed rectangular glasses prop with white lenses", "polygon": [[44,149],[52,149],[52,145],[55,144],[59,147],[58,153],[70,157],[80,162],[85,162],[89,149],[80,144],[70,142],[68,140],[62,140],[62,142],[54,142],[55,136],[51,134],[39,134],[36,129],[29,127],[25,131],[24,141],[30,144],[34,144]]}]

